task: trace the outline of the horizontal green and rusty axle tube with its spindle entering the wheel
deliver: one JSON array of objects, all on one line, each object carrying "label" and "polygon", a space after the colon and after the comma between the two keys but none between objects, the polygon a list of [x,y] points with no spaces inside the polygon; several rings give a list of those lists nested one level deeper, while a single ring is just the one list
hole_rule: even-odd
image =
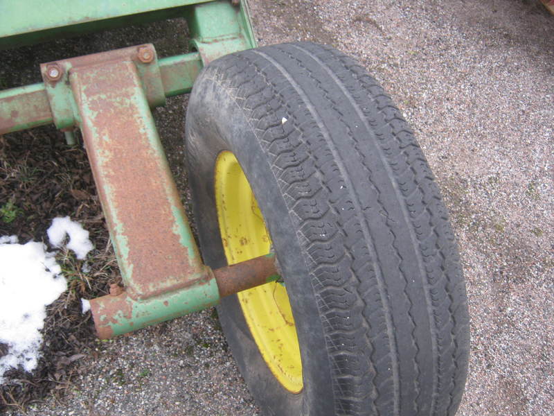
[{"label": "horizontal green and rusty axle tube with its spindle entering the wheel", "polygon": [[[215,306],[221,297],[233,295],[279,278],[273,254],[233,266],[208,270],[206,278],[175,291],[137,299],[121,288],[90,301],[96,333],[112,338],[187,313]],[[213,295],[213,293],[219,294]]]}]

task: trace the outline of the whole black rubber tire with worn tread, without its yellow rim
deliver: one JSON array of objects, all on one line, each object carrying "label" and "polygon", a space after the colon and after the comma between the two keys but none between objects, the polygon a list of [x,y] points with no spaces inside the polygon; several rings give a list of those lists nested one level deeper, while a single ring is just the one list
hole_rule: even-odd
[{"label": "whole black rubber tire with worn tread, without its yellow rim", "polygon": [[412,130],[364,68],[312,43],[227,55],[195,82],[186,140],[204,261],[226,264],[213,169],[230,150],[283,269],[298,395],[269,372],[236,297],[219,309],[262,411],[454,415],[469,354],[456,241]]}]

